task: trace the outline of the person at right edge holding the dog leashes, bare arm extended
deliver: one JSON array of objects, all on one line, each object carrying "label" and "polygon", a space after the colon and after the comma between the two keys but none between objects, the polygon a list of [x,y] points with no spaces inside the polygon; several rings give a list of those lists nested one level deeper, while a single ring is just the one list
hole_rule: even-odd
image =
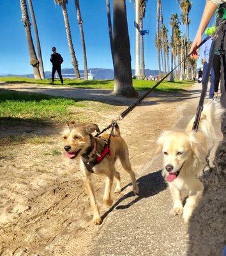
[{"label": "person at right edge holding the dog leashes, bare arm extended", "polygon": [[[221,61],[221,90],[222,95],[220,97],[220,102],[223,108],[226,108],[226,23],[225,23],[225,10],[226,10],[226,0],[207,0],[206,6],[204,8],[204,12],[202,14],[202,19],[199,24],[199,29],[193,40],[192,47],[190,52],[192,52],[193,58],[198,58],[198,50],[195,48],[202,42],[202,34],[206,29],[209,21],[215,14],[217,8],[220,7],[218,11],[218,18],[216,20],[216,28],[217,28],[217,38],[216,38],[216,46],[215,49],[218,49],[220,52],[220,61]],[[223,140],[226,141],[226,113],[222,116],[222,133]]]}]

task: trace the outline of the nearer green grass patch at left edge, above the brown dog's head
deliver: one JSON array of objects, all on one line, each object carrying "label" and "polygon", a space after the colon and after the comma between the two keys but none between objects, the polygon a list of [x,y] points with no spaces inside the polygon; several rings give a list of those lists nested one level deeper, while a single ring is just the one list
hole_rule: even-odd
[{"label": "nearer green grass patch at left edge, above the brown dog's head", "polygon": [[2,124],[18,124],[25,121],[37,124],[66,123],[70,120],[87,122],[94,116],[94,113],[93,116],[90,113],[93,109],[98,113],[116,108],[101,102],[0,90],[0,123]]}]

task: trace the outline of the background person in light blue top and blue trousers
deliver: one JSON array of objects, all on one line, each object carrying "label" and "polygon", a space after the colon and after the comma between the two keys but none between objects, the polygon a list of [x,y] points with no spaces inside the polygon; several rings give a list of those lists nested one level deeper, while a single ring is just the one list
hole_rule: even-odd
[{"label": "background person in light blue top and blue trousers", "polygon": [[[202,76],[206,76],[206,70],[207,66],[209,63],[209,52],[210,52],[210,47],[213,42],[213,39],[210,38],[208,41],[206,41],[205,44],[203,44],[200,47],[200,58],[203,63],[203,71],[202,71]],[[213,99],[215,95],[215,72],[213,71],[213,67],[211,67],[211,80],[210,80],[210,89],[209,89],[209,99]]]}]

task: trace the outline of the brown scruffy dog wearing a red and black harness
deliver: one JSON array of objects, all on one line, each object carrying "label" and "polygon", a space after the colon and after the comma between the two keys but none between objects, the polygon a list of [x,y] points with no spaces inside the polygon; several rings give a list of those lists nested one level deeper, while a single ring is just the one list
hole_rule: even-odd
[{"label": "brown scruffy dog wearing a red and black harness", "polygon": [[[68,124],[68,127],[63,131],[64,139],[64,150],[66,150],[66,156],[70,159],[75,159],[75,157],[80,157],[80,170],[84,177],[84,183],[86,186],[87,195],[89,196],[89,201],[91,204],[91,209],[93,211],[93,221],[94,224],[100,225],[102,220],[100,218],[100,211],[98,205],[96,204],[96,199],[93,192],[93,186],[91,182],[91,172],[89,172],[84,164],[84,159],[92,159],[92,157],[98,157],[103,151],[103,148],[107,144],[109,134],[103,134],[100,137],[94,137],[92,133],[94,131],[99,132],[100,129],[96,124],[75,124],[72,122]],[[103,195],[103,202],[110,206],[112,205],[112,198],[110,195],[114,177],[116,178],[116,189],[114,193],[119,193],[121,191],[120,186],[120,174],[116,172],[115,163],[119,158],[121,164],[130,174],[133,184],[133,191],[135,195],[139,195],[139,188],[137,186],[137,180],[135,179],[135,174],[132,171],[129,152],[126,143],[120,136],[120,131],[118,125],[114,127],[116,134],[112,134],[110,140],[110,154],[102,160],[101,163],[96,164],[93,167],[92,172],[95,174],[106,175],[105,191]]]}]

